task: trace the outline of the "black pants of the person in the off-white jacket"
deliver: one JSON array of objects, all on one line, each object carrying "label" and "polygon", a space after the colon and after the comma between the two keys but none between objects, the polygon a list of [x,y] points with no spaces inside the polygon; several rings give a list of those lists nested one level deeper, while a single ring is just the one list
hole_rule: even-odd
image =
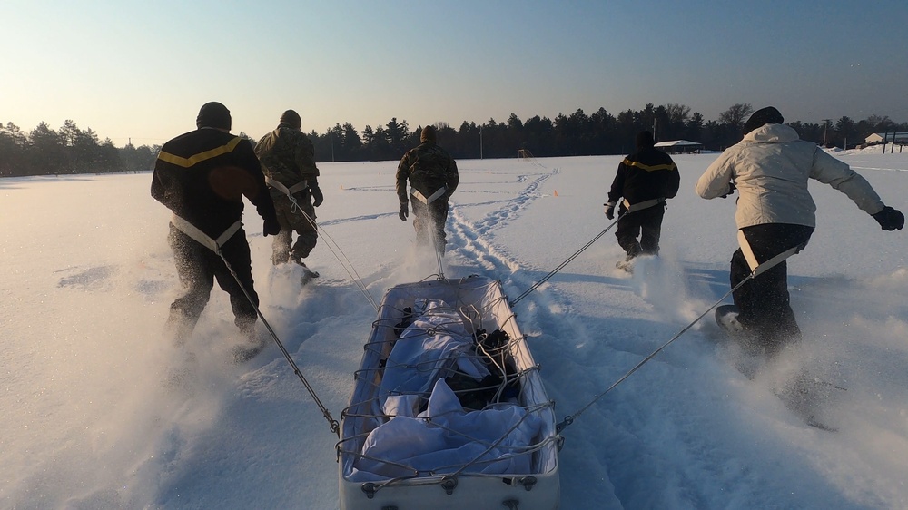
[{"label": "black pants of the person in the off-white jacket", "polygon": [[[766,223],[741,229],[756,261],[760,264],[779,253],[801,246],[810,240],[814,227],[788,223]],[[731,260],[731,286],[744,281],[753,270],[744,252],[735,251]],[[785,260],[757,275],[735,290],[735,305],[740,310],[738,320],[752,332],[758,345],[774,354],[779,348],[801,339],[801,329],[795,320],[788,294],[788,266]]]}]

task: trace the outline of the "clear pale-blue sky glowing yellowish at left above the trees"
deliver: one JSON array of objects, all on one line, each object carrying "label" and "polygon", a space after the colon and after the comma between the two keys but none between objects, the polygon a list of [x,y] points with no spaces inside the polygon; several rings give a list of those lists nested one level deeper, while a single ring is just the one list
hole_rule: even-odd
[{"label": "clear pale-blue sky glowing yellowish at left above the trees", "polygon": [[208,101],[252,137],[288,108],[306,132],[646,103],[901,123],[906,26],[904,0],[5,0],[0,123],[118,146],[190,131]]}]

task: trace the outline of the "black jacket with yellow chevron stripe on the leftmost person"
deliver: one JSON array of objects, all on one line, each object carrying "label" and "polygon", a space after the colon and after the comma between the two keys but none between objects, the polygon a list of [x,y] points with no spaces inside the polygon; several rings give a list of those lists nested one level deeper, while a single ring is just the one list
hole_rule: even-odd
[{"label": "black jacket with yellow chevron stripe on the leftmost person", "polygon": [[154,162],[154,200],[213,239],[241,220],[243,195],[263,219],[277,221],[252,144],[239,136],[187,132],[164,143]]}]

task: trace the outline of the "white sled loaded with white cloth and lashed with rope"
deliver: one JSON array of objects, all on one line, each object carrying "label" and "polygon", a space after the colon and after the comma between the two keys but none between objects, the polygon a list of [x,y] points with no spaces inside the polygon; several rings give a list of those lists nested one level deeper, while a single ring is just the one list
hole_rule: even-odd
[{"label": "white sled loaded with white cloth and lashed with rope", "polygon": [[498,281],[395,286],[364,348],[342,510],[558,508],[554,403]]}]

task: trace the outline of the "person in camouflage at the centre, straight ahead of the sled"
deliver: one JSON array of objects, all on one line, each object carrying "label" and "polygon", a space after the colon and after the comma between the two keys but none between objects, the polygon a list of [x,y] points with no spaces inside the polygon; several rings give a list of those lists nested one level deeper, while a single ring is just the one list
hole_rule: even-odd
[{"label": "person in camouflage at the centre, straight ahead of the sled", "polygon": [[[419,245],[434,245],[444,254],[445,222],[448,221],[448,200],[460,181],[457,162],[436,144],[435,127],[426,126],[419,136],[419,146],[410,149],[400,159],[397,171],[397,194],[400,201],[400,220],[410,215],[408,204],[413,197],[413,229]],[[410,181],[410,193],[407,182]]]}]

